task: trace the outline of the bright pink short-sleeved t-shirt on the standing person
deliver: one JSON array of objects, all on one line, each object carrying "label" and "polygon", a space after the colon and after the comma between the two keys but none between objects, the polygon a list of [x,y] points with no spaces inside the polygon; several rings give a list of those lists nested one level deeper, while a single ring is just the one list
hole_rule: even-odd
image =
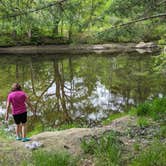
[{"label": "bright pink short-sleeved t-shirt on the standing person", "polygon": [[12,104],[13,115],[22,114],[26,112],[26,98],[27,95],[23,91],[13,91],[9,93],[7,100]]}]

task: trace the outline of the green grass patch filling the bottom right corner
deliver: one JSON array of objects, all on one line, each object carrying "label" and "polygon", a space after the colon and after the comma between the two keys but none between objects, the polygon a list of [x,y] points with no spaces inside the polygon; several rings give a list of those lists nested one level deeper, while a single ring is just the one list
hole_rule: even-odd
[{"label": "green grass patch filling the bottom right corner", "polygon": [[160,142],[154,142],[133,159],[130,166],[165,166],[166,146]]}]

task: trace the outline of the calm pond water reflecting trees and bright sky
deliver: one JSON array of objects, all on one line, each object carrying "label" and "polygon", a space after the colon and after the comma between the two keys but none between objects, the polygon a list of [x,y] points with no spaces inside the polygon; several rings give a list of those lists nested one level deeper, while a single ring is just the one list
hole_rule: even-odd
[{"label": "calm pond water reflecting trees and bright sky", "polygon": [[[131,105],[165,95],[166,78],[151,54],[0,56],[0,112],[13,82],[20,82],[37,111],[31,129],[66,122],[89,124]],[[12,118],[11,118],[12,119]]]}]

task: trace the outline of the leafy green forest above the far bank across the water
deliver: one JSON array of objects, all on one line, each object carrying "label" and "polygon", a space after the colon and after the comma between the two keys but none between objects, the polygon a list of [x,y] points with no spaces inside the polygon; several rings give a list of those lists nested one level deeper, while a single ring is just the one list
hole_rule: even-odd
[{"label": "leafy green forest above the far bank across the water", "polygon": [[166,43],[165,0],[0,0],[0,46]]}]

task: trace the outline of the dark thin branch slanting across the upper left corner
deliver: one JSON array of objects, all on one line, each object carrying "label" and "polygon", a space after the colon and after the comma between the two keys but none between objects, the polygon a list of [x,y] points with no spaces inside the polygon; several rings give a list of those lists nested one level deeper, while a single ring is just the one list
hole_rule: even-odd
[{"label": "dark thin branch slanting across the upper left corner", "polygon": [[23,11],[23,12],[20,12],[20,13],[9,14],[9,15],[6,15],[6,16],[1,16],[0,19],[8,19],[8,18],[12,18],[12,17],[18,17],[18,16],[21,16],[21,15],[27,15],[29,13],[38,12],[40,10],[43,10],[43,9],[46,9],[46,8],[49,8],[49,7],[52,7],[52,6],[55,6],[55,5],[61,5],[65,1],[66,0],[59,0],[59,1],[56,1],[56,2],[51,2],[48,5],[41,6],[41,7],[35,8],[35,9],[30,9],[28,11]]}]

